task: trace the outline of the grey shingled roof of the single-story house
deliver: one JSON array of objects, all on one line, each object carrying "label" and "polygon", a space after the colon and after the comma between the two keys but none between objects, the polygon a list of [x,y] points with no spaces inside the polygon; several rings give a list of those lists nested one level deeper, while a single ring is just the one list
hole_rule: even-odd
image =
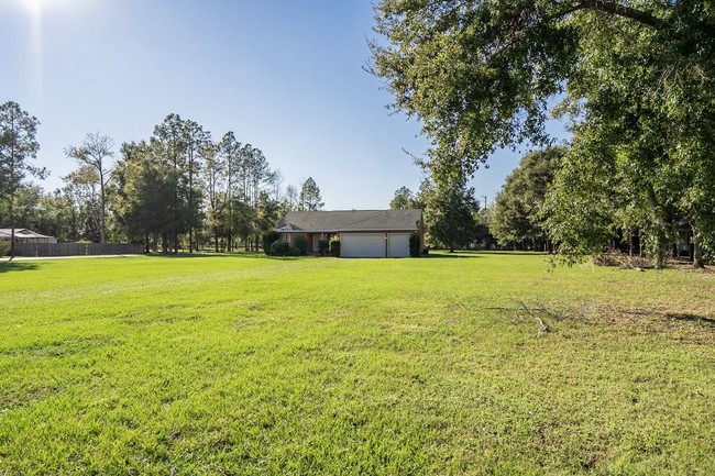
[{"label": "grey shingled roof of the single-story house", "polygon": [[279,232],[418,230],[421,210],[292,211],[276,225]]}]

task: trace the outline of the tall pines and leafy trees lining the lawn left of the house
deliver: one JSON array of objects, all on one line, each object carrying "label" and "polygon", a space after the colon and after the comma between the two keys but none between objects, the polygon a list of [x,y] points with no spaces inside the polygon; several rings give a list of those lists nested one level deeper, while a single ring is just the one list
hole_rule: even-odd
[{"label": "tall pines and leafy trees lining the lawn left of the house", "polygon": [[210,244],[217,252],[257,251],[261,234],[282,214],[320,210],[320,188],[309,177],[282,187],[279,170],[233,132],[219,141],[195,121],[169,114],[148,141],[119,147],[100,132],[69,145],[77,168],[64,186],[45,191],[30,178],[37,119],[19,104],[0,106],[0,226],[28,228],[61,242],[144,243],[177,253]]}]

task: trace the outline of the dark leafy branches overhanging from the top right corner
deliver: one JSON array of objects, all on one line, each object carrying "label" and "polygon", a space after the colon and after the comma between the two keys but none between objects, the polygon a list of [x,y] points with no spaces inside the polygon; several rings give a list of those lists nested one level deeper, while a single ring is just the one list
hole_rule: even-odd
[{"label": "dark leafy branches overhanging from the top right corner", "polygon": [[653,52],[661,80],[676,82],[670,95],[696,75],[712,86],[705,1],[384,0],[375,18],[387,44],[371,44],[371,70],[393,108],[422,121],[437,176],[472,174],[497,147],[547,144],[548,101],[565,91],[578,113],[583,85],[608,68],[587,59],[614,37]]}]

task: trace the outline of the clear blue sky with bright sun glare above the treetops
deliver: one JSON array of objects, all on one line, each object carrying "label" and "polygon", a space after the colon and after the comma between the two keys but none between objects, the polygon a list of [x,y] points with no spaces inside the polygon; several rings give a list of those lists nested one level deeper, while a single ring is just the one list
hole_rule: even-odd
[{"label": "clear blue sky with bright sun glare above the treetops", "polygon": [[[370,59],[370,1],[0,0],[0,102],[41,121],[37,164],[101,131],[148,139],[169,113],[261,148],[283,186],[314,177],[327,209],[387,208],[422,176],[419,124],[389,114]],[[497,153],[472,185],[488,200],[518,156]]]}]

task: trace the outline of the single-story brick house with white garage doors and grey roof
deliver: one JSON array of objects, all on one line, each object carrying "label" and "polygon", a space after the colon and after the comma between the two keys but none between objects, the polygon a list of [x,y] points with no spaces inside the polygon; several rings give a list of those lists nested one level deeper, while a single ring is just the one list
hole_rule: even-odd
[{"label": "single-story brick house with white garage doors and grey roof", "polygon": [[320,240],[340,237],[341,257],[409,256],[409,235],[419,233],[424,243],[421,210],[292,211],[276,225],[280,240],[308,240],[308,252],[318,251]]}]

